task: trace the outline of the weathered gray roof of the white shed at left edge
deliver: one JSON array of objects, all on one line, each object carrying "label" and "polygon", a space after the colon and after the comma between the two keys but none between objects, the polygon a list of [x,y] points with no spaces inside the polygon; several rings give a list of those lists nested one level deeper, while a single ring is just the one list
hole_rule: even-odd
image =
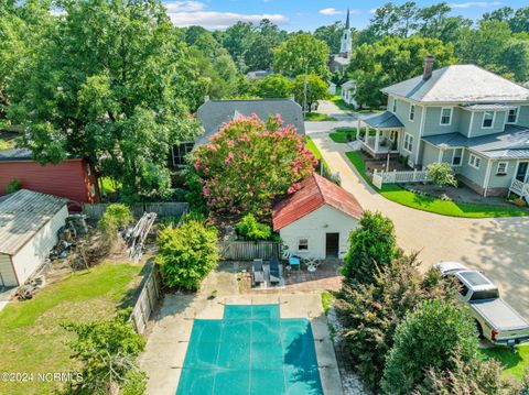
[{"label": "weathered gray roof of the white shed at left edge", "polygon": [[21,189],[0,201],[0,253],[15,254],[63,207],[67,199]]}]

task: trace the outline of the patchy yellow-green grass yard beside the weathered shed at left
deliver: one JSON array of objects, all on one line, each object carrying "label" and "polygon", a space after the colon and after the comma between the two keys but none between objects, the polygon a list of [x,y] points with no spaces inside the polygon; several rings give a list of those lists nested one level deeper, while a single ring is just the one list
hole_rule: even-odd
[{"label": "patchy yellow-green grass yard beside the weathered shed at left", "polygon": [[[0,312],[3,372],[68,372],[78,367],[65,344],[61,322],[115,316],[131,300],[141,266],[106,263],[50,284],[33,299],[10,303]],[[0,394],[47,394],[58,383],[4,383]]]}]

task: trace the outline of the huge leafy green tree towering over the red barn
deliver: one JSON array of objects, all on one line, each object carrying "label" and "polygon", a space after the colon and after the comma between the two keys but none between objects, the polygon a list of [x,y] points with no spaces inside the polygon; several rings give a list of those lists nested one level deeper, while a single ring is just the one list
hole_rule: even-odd
[{"label": "huge leafy green tree towering over the red barn", "polygon": [[169,186],[170,146],[187,120],[198,75],[155,0],[64,0],[65,14],[35,46],[10,117],[41,163],[86,157],[133,197]]}]

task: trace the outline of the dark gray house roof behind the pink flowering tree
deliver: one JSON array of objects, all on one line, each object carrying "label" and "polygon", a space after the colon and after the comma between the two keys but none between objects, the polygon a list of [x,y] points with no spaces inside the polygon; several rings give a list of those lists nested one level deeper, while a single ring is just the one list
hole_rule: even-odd
[{"label": "dark gray house roof behind the pink flowering tree", "polygon": [[198,108],[197,119],[202,121],[204,134],[196,138],[197,144],[205,144],[224,123],[230,122],[235,113],[245,117],[255,113],[261,120],[279,114],[284,124],[291,124],[299,134],[305,134],[301,106],[290,99],[260,100],[209,100]]}]

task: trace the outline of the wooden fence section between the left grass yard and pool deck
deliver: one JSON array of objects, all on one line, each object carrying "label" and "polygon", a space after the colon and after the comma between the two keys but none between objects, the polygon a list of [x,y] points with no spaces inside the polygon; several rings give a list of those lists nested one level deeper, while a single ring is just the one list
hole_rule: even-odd
[{"label": "wooden fence section between the left grass yard and pool deck", "polygon": [[161,283],[160,271],[154,265],[144,281],[138,300],[130,314],[130,320],[140,334],[145,331],[147,322],[160,303]]}]

